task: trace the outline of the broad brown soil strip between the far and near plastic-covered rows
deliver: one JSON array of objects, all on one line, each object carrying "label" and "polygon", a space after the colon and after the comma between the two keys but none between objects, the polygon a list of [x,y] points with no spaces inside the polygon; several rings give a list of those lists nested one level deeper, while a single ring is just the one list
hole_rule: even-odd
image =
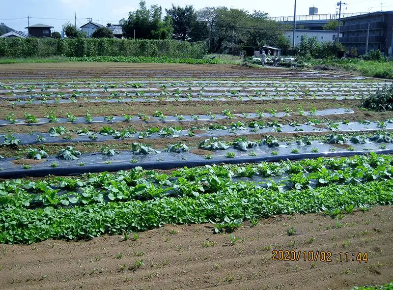
[{"label": "broad brown soil strip between the far and near plastic-covered rows", "polygon": [[299,104],[302,104],[305,111],[312,107],[318,110],[330,108],[356,108],[360,105],[359,100],[327,100],[327,99],[307,99],[307,100],[248,100],[248,101],[157,101],[157,102],[125,102],[125,103],[62,103],[62,104],[39,104],[11,106],[7,103],[0,104],[0,118],[4,119],[10,112],[16,118],[24,118],[24,114],[29,112],[36,117],[44,117],[54,112],[59,116],[66,113],[83,117],[87,110],[92,116],[122,116],[123,114],[137,116],[139,113],[152,116],[154,111],[162,111],[164,115],[202,115],[212,112],[221,114],[224,109],[229,109],[232,114],[254,113],[256,110],[269,112],[271,108],[278,112],[284,112],[289,108],[297,112]]}]

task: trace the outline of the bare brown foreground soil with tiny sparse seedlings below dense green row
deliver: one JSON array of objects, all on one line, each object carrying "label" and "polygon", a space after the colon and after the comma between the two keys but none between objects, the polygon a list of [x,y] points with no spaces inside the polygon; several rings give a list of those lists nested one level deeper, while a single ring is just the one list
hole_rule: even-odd
[{"label": "bare brown foreground soil with tiny sparse seedlings below dense green row", "polygon": [[[0,288],[316,290],[384,284],[393,280],[392,217],[392,206],[377,206],[344,215],[336,228],[335,219],[321,214],[273,216],[255,227],[245,222],[232,233],[239,238],[234,245],[229,234],[213,234],[212,224],[166,225],[141,232],[137,241],[115,235],[0,245]],[[291,227],[295,234],[288,236]],[[273,250],[301,255],[299,261],[272,261]],[[303,261],[303,251],[332,252],[331,262]],[[348,252],[349,261],[340,262],[339,252]],[[366,263],[352,261],[359,252],[367,253]],[[136,260],[144,265],[132,270]]]}]

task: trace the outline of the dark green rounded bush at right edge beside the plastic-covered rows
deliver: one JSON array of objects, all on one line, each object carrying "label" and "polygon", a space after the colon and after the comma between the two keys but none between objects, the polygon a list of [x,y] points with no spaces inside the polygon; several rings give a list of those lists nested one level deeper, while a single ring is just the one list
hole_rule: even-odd
[{"label": "dark green rounded bush at right edge beside the plastic-covered rows", "polygon": [[373,111],[393,111],[393,84],[371,93],[363,101],[363,106]]}]

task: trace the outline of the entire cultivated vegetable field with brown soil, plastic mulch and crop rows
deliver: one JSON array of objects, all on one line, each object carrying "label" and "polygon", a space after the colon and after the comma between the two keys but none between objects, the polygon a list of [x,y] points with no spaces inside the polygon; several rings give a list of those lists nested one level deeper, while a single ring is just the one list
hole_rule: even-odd
[{"label": "entire cultivated vegetable field with brown soil, plastic mulch and crop rows", "polygon": [[[361,107],[389,80],[218,64],[1,68],[1,289],[393,280],[393,112]],[[296,257],[273,261],[275,250]]]}]

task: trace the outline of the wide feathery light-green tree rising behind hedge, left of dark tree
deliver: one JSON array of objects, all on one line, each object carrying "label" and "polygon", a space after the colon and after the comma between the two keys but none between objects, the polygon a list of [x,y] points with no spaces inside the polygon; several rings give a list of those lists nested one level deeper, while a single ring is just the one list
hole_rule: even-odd
[{"label": "wide feathery light-green tree rising behind hedge, left of dark tree", "polygon": [[139,9],[129,12],[128,19],[120,20],[124,36],[142,39],[170,39],[172,37],[172,19],[167,15],[162,19],[162,8],[158,5],[146,8],[145,1],[140,1]]}]

